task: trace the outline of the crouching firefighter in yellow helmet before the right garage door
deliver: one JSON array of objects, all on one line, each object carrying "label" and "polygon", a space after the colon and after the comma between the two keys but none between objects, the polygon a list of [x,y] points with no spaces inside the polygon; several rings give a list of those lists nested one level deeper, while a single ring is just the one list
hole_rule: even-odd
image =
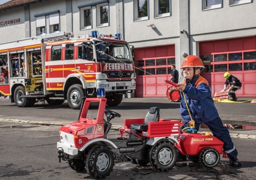
[{"label": "crouching firefighter in yellow helmet before the right garage door", "polygon": [[242,83],[239,81],[239,79],[237,79],[234,75],[231,75],[229,72],[226,72],[223,76],[226,79],[226,82],[224,84],[224,88],[220,92],[225,91],[229,84],[230,87],[228,88],[227,93],[232,98],[232,101],[237,101],[235,91],[237,89],[241,89]]}]

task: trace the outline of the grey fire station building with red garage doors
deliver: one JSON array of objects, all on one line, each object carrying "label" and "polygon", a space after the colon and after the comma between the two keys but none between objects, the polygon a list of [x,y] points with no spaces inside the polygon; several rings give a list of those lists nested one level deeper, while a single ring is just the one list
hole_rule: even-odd
[{"label": "grey fire station building with red garage doors", "polygon": [[238,97],[256,97],[256,2],[253,0],[11,0],[0,5],[0,43],[53,32],[122,33],[135,47],[135,97],[165,97],[171,65],[202,58],[212,93],[229,71]]}]

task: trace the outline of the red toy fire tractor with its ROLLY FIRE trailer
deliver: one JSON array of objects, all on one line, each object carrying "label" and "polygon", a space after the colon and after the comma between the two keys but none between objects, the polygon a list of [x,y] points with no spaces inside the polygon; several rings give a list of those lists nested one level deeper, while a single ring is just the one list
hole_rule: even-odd
[{"label": "red toy fire tractor with its ROLLY FIRE trailer", "polygon": [[[141,166],[150,162],[154,169],[167,171],[180,154],[214,167],[223,153],[223,142],[212,135],[180,134],[180,121],[159,118],[157,107],[150,108],[145,118],[124,119],[124,128],[119,130],[121,136],[108,139],[110,120],[121,115],[105,109],[106,98],[83,101],[78,121],[60,128],[57,143],[59,161],[67,161],[76,171],[86,170],[95,178],[105,178],[113,170],[114,162],[123,161]],[[94,101],[99,104],[97,117],[88,115]]]}]

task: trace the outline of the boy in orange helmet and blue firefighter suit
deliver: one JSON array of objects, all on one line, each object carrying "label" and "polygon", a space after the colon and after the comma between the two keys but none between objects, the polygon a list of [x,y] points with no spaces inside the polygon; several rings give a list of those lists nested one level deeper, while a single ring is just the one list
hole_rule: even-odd
[{"label": "boy in orange helmet and blue firefighter suit", "polygon": [[[229,157],[229,165],[240,167],[242,164],[237,159],[237,150],[230,138],[227,127],[219,117],[218,111],[214,106],[211,97],[209,83],[199,74],[203,71],[204,65],[201,58],[190,55],[187,56],[181,66],[182,74],[186,79],[182,84],[178,84],[180,89],[185,93],[187,104],[192,118],[195,121],[195,128],[198,131],[201,123],[205,123],[219,140],[224,142],[223,150]],[[187,127],[191,122],[185,99],[181,93],[180,114],[185,124],[181,127]]]}]

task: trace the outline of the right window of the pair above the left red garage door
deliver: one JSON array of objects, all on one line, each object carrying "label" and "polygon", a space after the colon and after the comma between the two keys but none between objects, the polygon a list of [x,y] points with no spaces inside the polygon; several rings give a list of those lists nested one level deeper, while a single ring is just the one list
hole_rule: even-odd
[{"label": "right window of the pair above the left red garage door", "polygon": [[155,1],[155,17],[165,17],[170,15],[171,15],[171,1],[156,0]]}]

